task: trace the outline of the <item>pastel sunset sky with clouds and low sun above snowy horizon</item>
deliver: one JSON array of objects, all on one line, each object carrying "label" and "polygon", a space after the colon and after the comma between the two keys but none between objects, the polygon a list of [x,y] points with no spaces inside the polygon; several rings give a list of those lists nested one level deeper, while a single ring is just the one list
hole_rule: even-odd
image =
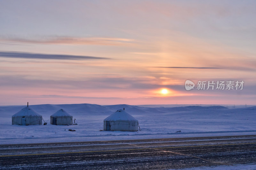
[{"label": "pastel sunset sky with clouds and low sun above snowy horizon", "polygon": [[[186,80],[244,84],[187,91]],[[0,105],[256,104],[256,1],[2,0],[0,96]]]}]

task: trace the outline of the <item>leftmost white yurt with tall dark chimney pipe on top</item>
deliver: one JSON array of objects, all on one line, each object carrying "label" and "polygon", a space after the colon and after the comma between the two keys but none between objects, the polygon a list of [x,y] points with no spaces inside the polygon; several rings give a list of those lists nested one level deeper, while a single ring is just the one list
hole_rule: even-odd
[{"label": "leftmost white yurt with tall dark chimney pipe on top", "polygon": [[42,125],[42,115],[30,107],[24,107],[12,116],[12,125]]}]

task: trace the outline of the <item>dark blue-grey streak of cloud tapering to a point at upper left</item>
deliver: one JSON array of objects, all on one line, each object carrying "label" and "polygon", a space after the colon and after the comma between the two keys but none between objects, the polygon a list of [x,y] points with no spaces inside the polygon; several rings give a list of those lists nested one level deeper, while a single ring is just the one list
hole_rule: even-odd
[{"label": "dark blue-grey streak of cloud tapering to a point at upper left", "polygon": [[75,55],[60,55],[60,54],[40,54],[28,52],[10,52],[0,51],[0,57],[5,58],[37,58],[37,59],[68,59],[68,60],[88,60],[88,59],[111,59],[105,57],[92,57],[92,56],[75,56]]}]

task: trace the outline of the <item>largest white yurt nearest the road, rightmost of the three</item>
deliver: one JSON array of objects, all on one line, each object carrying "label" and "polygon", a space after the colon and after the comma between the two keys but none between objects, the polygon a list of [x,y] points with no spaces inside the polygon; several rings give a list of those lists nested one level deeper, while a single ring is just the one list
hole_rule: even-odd
[{"label": "largest white yurt nearest the road, rightmost of the three", "polygon": [[103,130],[107,131],[138,131],[138,120],[120,109],[104,119]]}]

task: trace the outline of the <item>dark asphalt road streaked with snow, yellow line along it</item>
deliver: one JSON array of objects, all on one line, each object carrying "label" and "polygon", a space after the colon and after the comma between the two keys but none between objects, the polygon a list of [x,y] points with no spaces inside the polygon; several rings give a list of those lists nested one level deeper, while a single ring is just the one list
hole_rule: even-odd
[{"label": "dark asphalt road streaked with snow, yellow line along it", "polygon": [[0,169],[171,169],[256,164],[256,135],[0,145]]}]

